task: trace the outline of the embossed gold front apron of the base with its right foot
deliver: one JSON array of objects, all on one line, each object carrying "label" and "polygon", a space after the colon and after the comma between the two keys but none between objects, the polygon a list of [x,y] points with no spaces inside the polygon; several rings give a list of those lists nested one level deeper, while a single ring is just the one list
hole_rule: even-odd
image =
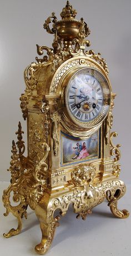
[{"label": "embossed gold front apron of the base with its right foot", "polygon": [[[117,193],[119,191],[119,193]],[[107,197],[109,201],[110,210],[118,218],[127,218],[129,212],[127,210],[120,211],[117,209],[117,200],[123,197],[125,193],[125,185],[120,180],[114,180],[109,182],[102,182],[96,187],[90,187],[86,189],[83,186],[75,187],[75,189],[67,192],[66,195],[59,195],[58,198],[53,198],[50,203],[50,209],[48,211],[48,219],[51,221],[53,218],[53,212],[56,209],[61,209],[60,214],[64,216],[67,213],[70,203],[73,203],[74,212],[77,213],[77,219],[82,217],[83,220],[88,214],[92,213],[92,208],[103,202],[104,198]],[[115,197],[117,195],[117,198]],[[113,202],[115,201],[115,204]],[[123,214],[120,214],[122,212]]]}]

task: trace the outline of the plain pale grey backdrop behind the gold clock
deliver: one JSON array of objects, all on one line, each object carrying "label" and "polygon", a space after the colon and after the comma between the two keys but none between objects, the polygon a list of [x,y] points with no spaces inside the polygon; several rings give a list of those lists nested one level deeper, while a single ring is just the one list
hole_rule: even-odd
[{"label": "plain pale grey backdrop behind the gold clock", "polygon": [[[1,177],[9,181],[6,171],[11,157],[12,139],[18,121],[22,122],[26,142],[26,122],[19,107],[24,92],[23,71],[35,61],[36,44],[51,46],[53,36],[43,29],[45,19],[59,13],[66,5],[64,0],[1,0],[0,15],[0,108],[1,108]],[[114,143],[122,143],[122,172],[120,178],[130,182],[130,0],[70,0],[87,22],[91,34],[90,49],[102,53],[109,67],[113,92],[117,93],[113,129],[118,132]]]}]

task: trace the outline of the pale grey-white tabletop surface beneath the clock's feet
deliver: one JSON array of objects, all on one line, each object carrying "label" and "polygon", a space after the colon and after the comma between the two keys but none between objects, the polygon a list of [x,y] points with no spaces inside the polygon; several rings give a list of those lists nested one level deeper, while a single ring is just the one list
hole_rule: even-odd
[{"label": "pale grey-white tabletop surface beneath the clock's feet", "polygon": [[[1,197],[3,189],[9,183],[4,182],[1,186]],[[119,200],[119,209],[128,209],[131,213],[130,189]],[[2,217],[5,212],[1,207],[1,233],[7,233],[9,229],[17,227],[17,220],[12,214]],[[37,255],[34,247],[41,240],[41,230],[36,214],[28,210],[28,219],[23,219],[22,232],[11,238],[1,235],[1,256],[29,256]],[[75,218],[76,214],[70,207],[68,213],[61,218],[60,226],[56,229],[48,256],[75,255],[75,256],[130,256],[130,227],[131,218],[118,219],[110,212],[107,202],[103,202],[93,209],[86,220]]]}]

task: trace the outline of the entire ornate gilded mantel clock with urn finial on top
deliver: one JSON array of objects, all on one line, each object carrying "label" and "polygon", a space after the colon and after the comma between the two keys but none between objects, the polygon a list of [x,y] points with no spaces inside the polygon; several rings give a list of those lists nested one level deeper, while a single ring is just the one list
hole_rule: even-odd
[{"label": "entire ornate gilded mantel clock with urn finial on top", "polygon": [[[12,142],[11,185],[3,193],[4,215],[11,212],[18,219],[17,229],[4,237],[21,232],[29,205],[41,225],[42,240],[35,248],[39,254],[47,252],[70,203],[83,220],[105,198],[115,217],[129,215],[117,208],[125,185],[118,178],[120,144],[112,142],[117,133],[110,133],[116,95],[105,60],[85,48],[90,46],[85,39],[90,31],[83,18],[75,19],[76,14],[67,1],[61,21],[52,13],[44,23],[44,29],[54,34],[53,48],[37,45],[42,57],[27,67],[26,90],[21,96],[28,156],[24,156],[19,122],[18,140]],[[15,206],[10,200],[12,192]]]}]

